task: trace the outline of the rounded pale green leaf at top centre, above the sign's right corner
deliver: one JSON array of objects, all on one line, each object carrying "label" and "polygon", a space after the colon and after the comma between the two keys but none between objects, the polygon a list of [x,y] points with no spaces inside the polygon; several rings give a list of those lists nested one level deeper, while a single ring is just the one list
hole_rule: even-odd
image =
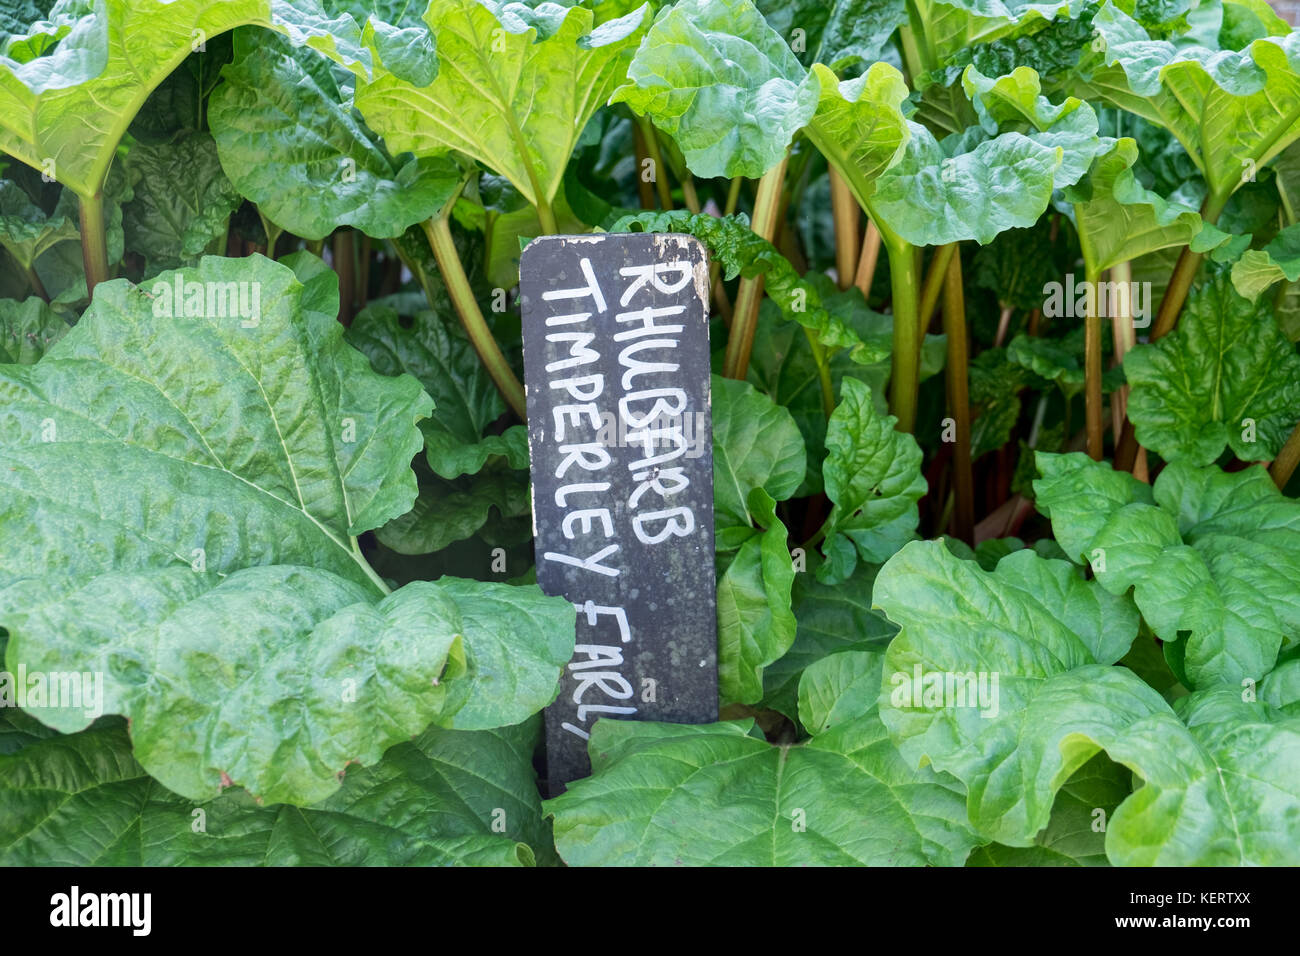
[{"label": "rounded pale green leaf at top centre, above the sign's right corner", "polygon": [[671,135],[696,176],[757,178],[812,117],[818,79],[751,0],[679,0],[612,99]]}]

